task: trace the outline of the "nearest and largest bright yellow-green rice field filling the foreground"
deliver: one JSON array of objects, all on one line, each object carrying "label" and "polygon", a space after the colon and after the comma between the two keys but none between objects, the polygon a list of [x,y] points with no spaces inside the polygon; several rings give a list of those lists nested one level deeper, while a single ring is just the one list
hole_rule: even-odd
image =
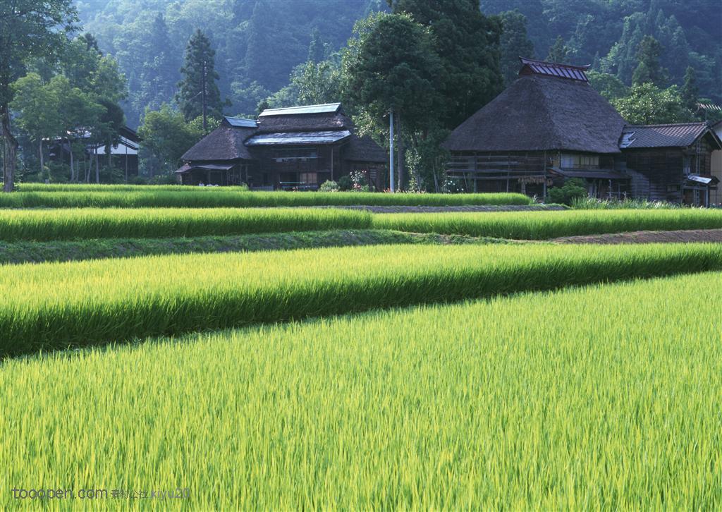
[{"label": "nearest and largest bright yellow-green rice field filling the foreground", "polygon": [[0,467],[8,489],[188,487],[191,510],[718,510],[721,290],[702,274],[9,360]]}]

